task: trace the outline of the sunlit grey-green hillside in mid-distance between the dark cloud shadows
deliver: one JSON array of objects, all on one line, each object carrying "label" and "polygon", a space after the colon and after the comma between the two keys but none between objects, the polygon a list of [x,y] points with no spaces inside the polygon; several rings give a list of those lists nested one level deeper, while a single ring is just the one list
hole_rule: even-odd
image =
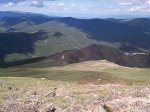
[{"label": "sunlit grey-green hillside in mid-distance between the dark cloud shadows", "polygon": [[[25,24],[24,28],[22,28],[23,24]],[[18,24],[17,26],[14,26],[14,28],[17,27],[17,30],[21,29],[20,31],[29,33],[44,30],[47,32],[47,38],[36,41],[33,46],[34,52],[31,54],[13,53],[7,55],[5,58],[7,62],[10,62],[12,60],[28,59],[31,57],[49,56],[65,50],[80,49],[91,44],[103,44],[112,47],[119,46],[119,43],[109,43],[102,41],[98,42],[96,40],[92,40],[88,38],[87,34],[79,31],[78,29],[69,27],[64,23],[56,21],[33,25],[30,26],[30,28],[26,28],[29,27],[28,24],[29,23],[24,22]],[[56,32],[59,32],[62,35],[55,36]]]}]

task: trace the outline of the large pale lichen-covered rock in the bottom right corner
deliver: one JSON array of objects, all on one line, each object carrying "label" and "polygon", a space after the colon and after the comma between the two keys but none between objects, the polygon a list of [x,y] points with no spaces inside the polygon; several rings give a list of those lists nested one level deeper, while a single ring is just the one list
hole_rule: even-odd
[{"label": "large pale lichen-covered rock in the bottom right corner", "polygon": [[144,98],[122,98],[106,103],[111,112],[150,112],[150,100]]}]

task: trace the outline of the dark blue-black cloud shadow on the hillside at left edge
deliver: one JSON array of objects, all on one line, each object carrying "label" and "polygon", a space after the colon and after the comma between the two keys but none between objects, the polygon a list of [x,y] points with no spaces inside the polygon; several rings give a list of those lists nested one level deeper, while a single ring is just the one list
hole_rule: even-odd
[{"label": "dark blue-black cloud shadow on the hillside at left edge", "polygon": [[5,64],[4,58],[13,53],[28,54],[34,51],[34,43],[47,38],[44,32],[37,33],[1,33],[0,34],[0,66]]}]

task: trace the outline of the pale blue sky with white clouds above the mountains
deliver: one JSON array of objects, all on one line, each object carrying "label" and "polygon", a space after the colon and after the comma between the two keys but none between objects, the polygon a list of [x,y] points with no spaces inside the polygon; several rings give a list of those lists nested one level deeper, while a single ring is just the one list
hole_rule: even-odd
[{"label": "pale blue sky with white clouds above the mountains", "polygon": [[150,0],[0,0],[0,10],[73,17],[150,16]]}]

